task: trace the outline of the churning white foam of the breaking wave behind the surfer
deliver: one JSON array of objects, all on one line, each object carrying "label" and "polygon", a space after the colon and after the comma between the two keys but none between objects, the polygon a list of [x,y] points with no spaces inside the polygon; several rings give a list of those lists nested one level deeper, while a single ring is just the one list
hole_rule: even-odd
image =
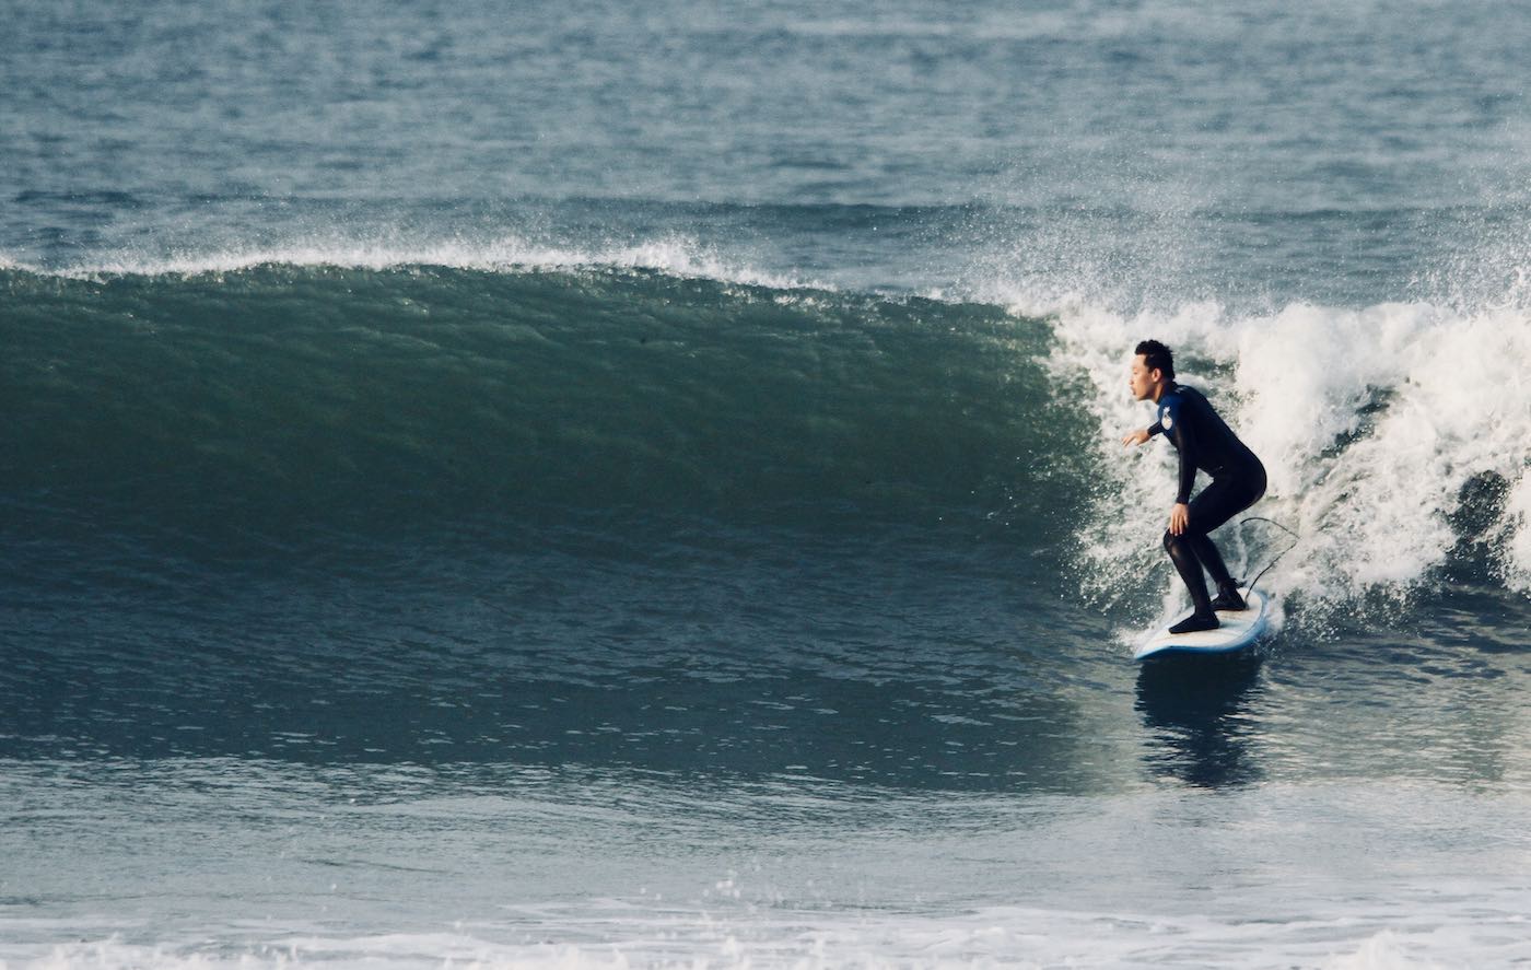
[{"label": "churning white foam of the breaking wave behind the surfer", "polygon": [[[1177,352],[1179,378],[1206,390],[1265,462],[1269,490],[1249,514],[1301,535],[1266,589],[1327,601],[1405,594],[1448,558],[1450,516],[1464,485],[1485,473],[1510,485],[1499,566],[1531,589],[1531,312],[1389,303],[1237,315],[1200,303],[1127,315],[1076,297],[1012,306],[1050,312],[1058,346],[1049,364],[1090,389],[1105,476],[1079,537],[1093,592],[1108,598],[1134,574],[1162,569],[1173,448],[1119,444],[1153,419],[1127,390],[1131,349],[1148,337]],[[1243,539],[1254,558],[1236,569],[1258,568],[1278,548],[1280,535],[1252,529]]]}]

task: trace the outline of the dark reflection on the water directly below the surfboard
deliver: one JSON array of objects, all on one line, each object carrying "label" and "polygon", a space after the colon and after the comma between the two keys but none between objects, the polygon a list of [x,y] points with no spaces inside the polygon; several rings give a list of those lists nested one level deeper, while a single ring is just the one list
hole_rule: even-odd
[{"label": "dark reflection on the water directly below the surfboard", "polygon": [[1248,716],[1258,682],[1258,655],[1144,664],[1134,707],[1148,728],[1150,771],[1200,788],[1258,782],[1263,771],[1249,753]]}]

